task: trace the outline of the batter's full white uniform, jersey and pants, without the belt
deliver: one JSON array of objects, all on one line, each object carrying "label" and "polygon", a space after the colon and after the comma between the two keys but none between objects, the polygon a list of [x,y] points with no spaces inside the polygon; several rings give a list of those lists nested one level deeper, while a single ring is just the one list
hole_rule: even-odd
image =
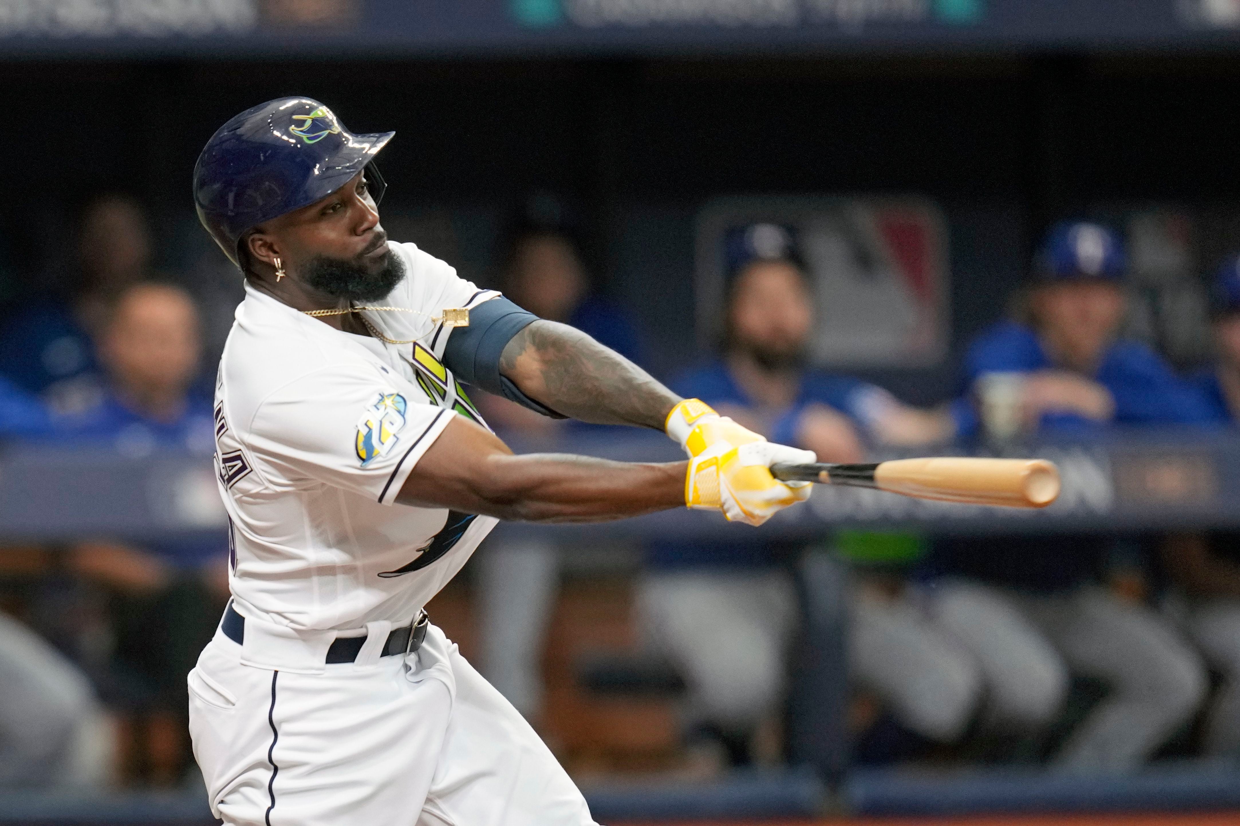
[{"label": "batter's full white uniform, jersey and pants, without the belt", "polygon": [[[477,290],[413,244],[342,333],[247,286],[219,364],[216,443],[243,640],[223,629],[188,675],[211,811],[236,826],[595,826],[564,769],[441,630],[384,655],[496,520],[392,506],[454,416],[481,421],[430,316]],[[356,659],[327,663],[341,637]]]}]

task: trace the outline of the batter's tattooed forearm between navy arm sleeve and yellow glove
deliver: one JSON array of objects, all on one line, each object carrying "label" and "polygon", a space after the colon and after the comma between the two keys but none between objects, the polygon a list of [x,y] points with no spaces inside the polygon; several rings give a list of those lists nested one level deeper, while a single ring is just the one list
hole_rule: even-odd
[{"label": "batter's tattooed forearm between navy arm sleeve and yellow glove", "polygon": [[619,353],[553,321],[517,333],[503,348],[500,373],[556,412],[595,425],[662,430],[681,400]]}]

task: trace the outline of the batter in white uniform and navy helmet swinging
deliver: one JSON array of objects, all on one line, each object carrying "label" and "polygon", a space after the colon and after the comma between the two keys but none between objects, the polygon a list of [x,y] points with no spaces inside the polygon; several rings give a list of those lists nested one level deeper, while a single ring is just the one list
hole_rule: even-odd
[{"label": "batter in white uniform and navy helmet swinging", "polygon": [[[232,602],[190,672],[190,733],[228,824],[590,824],[521,716],[423,606],[498,519],[688,504],[761,524],[808,488],[773,445],[570,327],[389,243],[374,157],[281,98],[207,142],[198,215],[244,272],[217,380]],[[552,416],[666,428],[687,462],[513,456],[463,386]]]}]

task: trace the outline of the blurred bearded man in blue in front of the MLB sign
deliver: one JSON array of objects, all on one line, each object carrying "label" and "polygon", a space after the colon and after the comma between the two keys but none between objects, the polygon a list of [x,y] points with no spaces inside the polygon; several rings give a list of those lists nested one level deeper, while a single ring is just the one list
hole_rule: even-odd
[{"label": "blurred bearded man in blue in front of the MLB sign", "polygon": [[[728,234],[723,354],[673,383],[677,393],[696,395],[771,440],[815,451],[822,462],[861,462],[867,445],[952,437],[946,411],[909,407],[878,386],[808,367],[815,302],[790,230],[774,224],[735,229]],[[779,718],[797,633],[838,640],[831,651],[820,643],[813,658],[791,659],[799,665],[816,659],[815,666],[823,670],[817,679],[837,681],[807,689],[816,695],[811,702],[844,702],[843,588],[816,585],[797,593],[806,566],[821,563],[823,556],[802,551],[795,542],[760,539],[684,540],[649,549],[639,589],[640,620],[653,649],[684,677],[691,754],[703,768],[712,763],[722,768],[724,759],[777,759]],[[866,585],[873,587],[853,601],[851,617],[857,676],[910,727],[931,738],[956,737],[977,693],[967,663],[961,664],[940,634],[904,611],[899,587]],[[799,604],[815,627],[804,627]],[[822,661],[825,654],[835,661]],[[800,690],[794,689],[794,700]],[[797,721],[796,728],[806,723]]]}]

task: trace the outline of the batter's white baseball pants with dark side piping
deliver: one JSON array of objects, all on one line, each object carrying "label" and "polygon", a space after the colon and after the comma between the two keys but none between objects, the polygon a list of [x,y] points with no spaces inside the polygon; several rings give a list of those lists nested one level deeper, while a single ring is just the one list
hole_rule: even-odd
[{"label": "batter's white baseball pants with dark side piping", "polygon": [[237,826],[594,824],[534,731],[439,628],[414,654],[370,660],[257,667],[217,632],[188,677],[212,812]]}]

